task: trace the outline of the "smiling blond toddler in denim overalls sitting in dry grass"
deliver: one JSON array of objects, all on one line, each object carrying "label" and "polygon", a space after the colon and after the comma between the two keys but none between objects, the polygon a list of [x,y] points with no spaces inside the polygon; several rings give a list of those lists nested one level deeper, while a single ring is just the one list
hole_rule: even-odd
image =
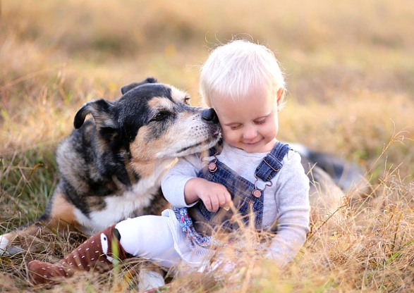
[{"label": "smiling blond toddler in denim overalls sitting in dry grass", "polygon": [[200,94],[223,139],[169,170],[162,190],[172,208],[108,227],[54,265],[30,262],[33,282],[108,270],[130,257],[200,270],[222,244],[215,231],[241,225],[272,235],[257,249],[279,267],[292,260],[309,232],[310,185],[299,154],[276,139],[285,82],[273,52],[246,40],[218,46],[202,66]]}]

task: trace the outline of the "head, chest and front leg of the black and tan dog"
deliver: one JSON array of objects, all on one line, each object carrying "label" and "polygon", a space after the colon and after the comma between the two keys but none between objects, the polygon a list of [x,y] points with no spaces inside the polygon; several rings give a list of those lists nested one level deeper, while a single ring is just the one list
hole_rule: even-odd
[{"label": "head, chest and front leg of the black and tan dog", "polygon": [[[0,236],[0,254],[13,253],[19,236],[39,227],[86,235],[126,218],[157,214],[166,206],[160,182],[177,157],[217,144],[212,109],[188,105],[188,94],[147,78],[121,89],[116,101],[85,104],[75,130],[61,142],[60,182],[36,223]],[[85,121],[88,114],[92,119]]]}]

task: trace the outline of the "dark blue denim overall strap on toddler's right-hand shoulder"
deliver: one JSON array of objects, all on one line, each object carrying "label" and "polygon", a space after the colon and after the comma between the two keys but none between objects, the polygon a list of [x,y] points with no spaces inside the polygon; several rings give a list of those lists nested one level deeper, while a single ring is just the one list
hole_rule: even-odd
[{"label": "dark blue denim overall strap on toddler's right-hand shoulder", "polygon": [[288,153],[288,144],[277,142],[272,151],[267,154],[256,168],[256,176],[263,181],[271,181],[277,172],[283,167],[281,161]]}]

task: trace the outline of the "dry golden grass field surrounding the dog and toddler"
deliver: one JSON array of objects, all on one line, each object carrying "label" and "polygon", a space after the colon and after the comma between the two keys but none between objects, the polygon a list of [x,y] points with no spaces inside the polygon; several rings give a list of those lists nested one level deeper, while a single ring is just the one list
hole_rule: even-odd
[{"label": "dry golden grass field surrounding the dog and toddler", "polygon": [[[208,48],[245,33],[275,49],[286,70],[279,138],[360,163],[372,192],[343,207],[340,223],[313,227],[286,270],[248,256],[238,274],[176,278],[168,292],[413,292],[413,1],[0,5],[1,234],[43,211],[59,180],[54,150],[85,101],[116,99],[121,86],[153,75],[197,104]],[[27,239],[35,249],[0,258],[0,292],[136,291],[134,264],[30,287],[27,261],[54,261],[82,238]]]}]

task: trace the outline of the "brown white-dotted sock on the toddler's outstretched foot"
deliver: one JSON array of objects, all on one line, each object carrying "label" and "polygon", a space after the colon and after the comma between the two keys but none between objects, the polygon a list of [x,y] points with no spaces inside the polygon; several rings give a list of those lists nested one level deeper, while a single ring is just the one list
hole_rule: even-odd
[{"label": "brown white-dotted sock on the toddler's outstretched foot", "polygon": [[104,273],[110,270],[114,263],[131,257],[121,247],[121,235],[114,227],[115,225],[112,225],[93,235],[59,263],[30,261],[30,280],[37,285],[56,283],[59,278],[71,277],[76,270]]}]

